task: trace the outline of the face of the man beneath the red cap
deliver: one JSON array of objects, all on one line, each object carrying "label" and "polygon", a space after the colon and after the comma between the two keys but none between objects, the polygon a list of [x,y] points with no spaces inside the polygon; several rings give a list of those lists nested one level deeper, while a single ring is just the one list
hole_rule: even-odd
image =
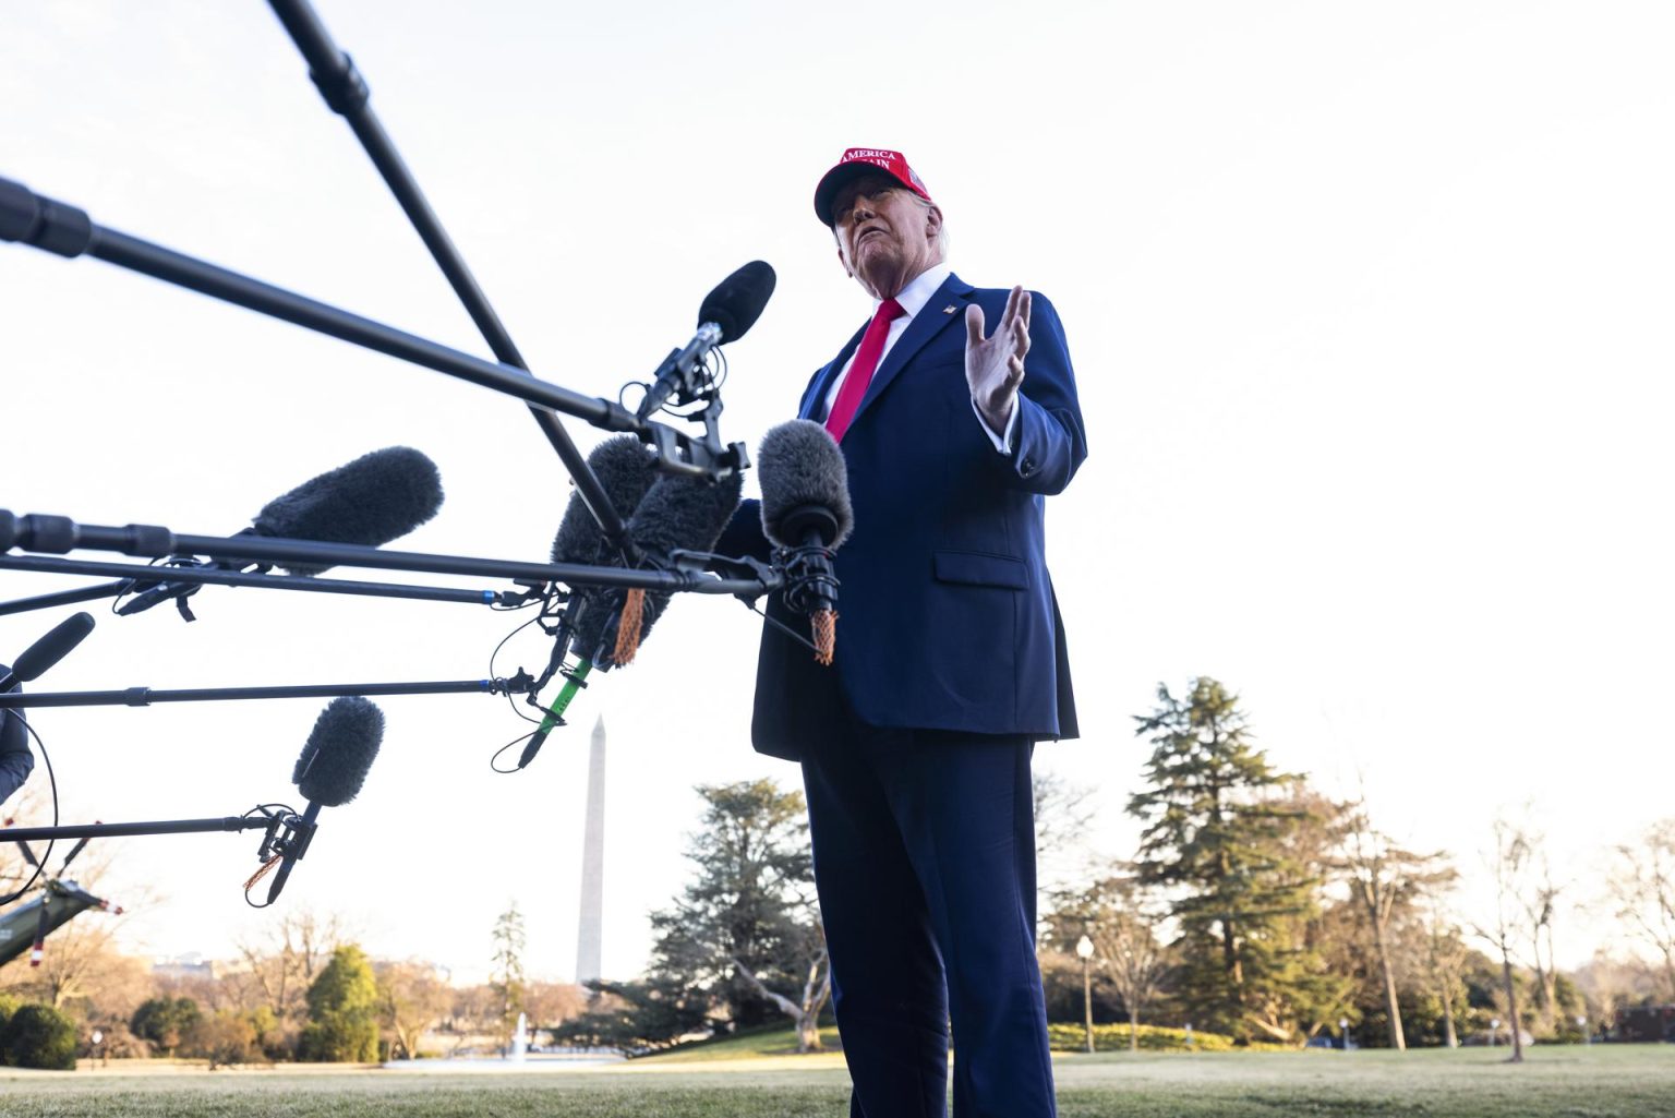
[{"label": "face of the man beneath the red cap", "polygon": [[941,260],[941,210],[923,206],[884,173],[861,174],[832,196],[832,235],[844,272],[874,298],[894,298]]}]

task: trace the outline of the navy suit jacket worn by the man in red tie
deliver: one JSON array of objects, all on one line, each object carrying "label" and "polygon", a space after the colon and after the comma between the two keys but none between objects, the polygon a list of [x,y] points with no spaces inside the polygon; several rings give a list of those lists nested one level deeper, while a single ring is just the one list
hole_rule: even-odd
[{"label": "navy suit jacket worn by the man in red tie", "polygon": [[[950,275],[873,374],[844,434],[854,533],[836,556],[838,659],[821,667],[764,627],[752,719],[760,753],[801,758],[841,724],[839,689],[873,726],[1077,736],[1044,520],[1044,498],[1087,456],[1070,354],[1052,303],[1032,293],[1013,449],[1002,454],[965,379],[970,303],[992,332],[1007,290]],[[863,332],[809,380],[799,417],[819,414]],[[740,508],[720,550],[760,551],[757,516],[754,501]],[[769,613],[807,630],[779,595]]]}]

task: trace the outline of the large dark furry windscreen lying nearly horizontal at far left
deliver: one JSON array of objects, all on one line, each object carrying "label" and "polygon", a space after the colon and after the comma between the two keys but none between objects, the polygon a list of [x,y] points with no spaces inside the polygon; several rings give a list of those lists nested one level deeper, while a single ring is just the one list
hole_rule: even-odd
[{"label": "large dark furry windscreen lying nearly horizontal at far left", "polygon": [[[253,523],[261,536],[377,548],[405,536],[439,508],[442,476],[436,463],[409,446],[387,446],[268,501]],[[330,563],[283,567],[293,575],[318,575]]]}]

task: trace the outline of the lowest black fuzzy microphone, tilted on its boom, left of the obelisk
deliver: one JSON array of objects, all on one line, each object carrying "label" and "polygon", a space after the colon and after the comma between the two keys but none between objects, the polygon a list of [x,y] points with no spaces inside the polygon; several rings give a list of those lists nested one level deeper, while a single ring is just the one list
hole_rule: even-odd
[{"label": "lowest black fuzzy microphone, tilted on its boom, left of the obelisk", "polygon": [[308,853],[320,808],[340,808],[360,793],[382,741],[384,711],[368,699],[357,696],[333,699],[315,719],[315,727],[291,771],[291,781],[308,801],[308,808],[302,816],[286,818],[286,833],[276,840],[263,840],[256,853],[263,860],[275,853],[281,858],[273,885],[268,887],[270,905],[285,888],[291,867]]}]

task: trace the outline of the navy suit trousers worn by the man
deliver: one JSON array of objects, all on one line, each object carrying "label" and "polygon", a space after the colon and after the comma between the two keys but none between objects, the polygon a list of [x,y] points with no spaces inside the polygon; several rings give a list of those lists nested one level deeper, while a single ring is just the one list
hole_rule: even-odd
[{"label": "navy suit trousers worn by the man", "polygon": [[[848,706],[848,704],[844,704]],[[853,1118],[1052,1118],[1028,738],[879,729],[802,759]]]}]

